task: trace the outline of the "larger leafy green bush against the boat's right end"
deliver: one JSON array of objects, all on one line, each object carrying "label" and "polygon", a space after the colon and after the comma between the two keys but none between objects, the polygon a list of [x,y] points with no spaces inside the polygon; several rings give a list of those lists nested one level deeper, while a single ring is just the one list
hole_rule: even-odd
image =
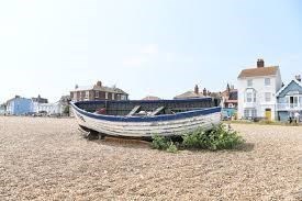
[{"label": "larger leafy green bush against the boat's right end", "polygon": [[220,124],[208,132],[198,129],[183,135],[182,138],[182,145],[186,148],[210,150],[231,149],[244,142],[236,131],[230,130],[223,124]]}]

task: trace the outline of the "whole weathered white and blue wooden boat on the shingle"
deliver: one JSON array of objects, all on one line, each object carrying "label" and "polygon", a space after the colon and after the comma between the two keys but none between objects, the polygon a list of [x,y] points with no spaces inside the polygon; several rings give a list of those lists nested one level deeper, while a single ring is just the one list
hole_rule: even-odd
[{"label": "whole weathered white and blue wooden boat on the shingle", "polygon": [[85,132],[104,137],[182,135],[198,127],[211,130],[221,121],[219,99],[126,100],[71,102]]}]

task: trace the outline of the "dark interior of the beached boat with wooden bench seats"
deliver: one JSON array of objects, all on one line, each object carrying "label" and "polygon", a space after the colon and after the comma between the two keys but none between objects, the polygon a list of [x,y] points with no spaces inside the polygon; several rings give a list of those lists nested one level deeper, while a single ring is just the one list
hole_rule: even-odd
[{"label": "dark interior of the beached boat with wooden bench seats", "polygon": [[183,100],[127,100],[127,101],[80,101],[75,105],[90,113],[103,115],[160,115],[220,105],[219,99],[199,98]]}]

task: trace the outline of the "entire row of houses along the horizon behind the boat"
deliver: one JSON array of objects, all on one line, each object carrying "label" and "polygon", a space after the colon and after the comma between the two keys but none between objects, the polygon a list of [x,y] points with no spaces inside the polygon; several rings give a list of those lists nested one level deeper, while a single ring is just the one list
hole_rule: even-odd
[{"label": "entire row of houses along the horizon behind the boat", "polygon": [[[239,72],[237,83],[237,89],[227,83],[222,92],[210,92],[205,88],[200,90],[197,85],[193,90],[178,94],[174,99],[219,98],[227,115],[236,114],[238,119],[259,118],[270,121],[288,121],[297,113],[302,116],[301,76],[295,76],[284,85],[279,66],[265,66],[264,59],[258,59],[256,66]],[[144,98],[144,100],[159,99],[154,96]],[[16,96],[0,105],[0,114],[21,115],[42,111],[47,114],[61,114],[70,100],[128,100],[128,93],[115,86],[103,86],[101,81],[87,87],[76,85],[70,96],[63,97],[55,103],[48,103],[48,100],[41,96],[32,99]]]}]

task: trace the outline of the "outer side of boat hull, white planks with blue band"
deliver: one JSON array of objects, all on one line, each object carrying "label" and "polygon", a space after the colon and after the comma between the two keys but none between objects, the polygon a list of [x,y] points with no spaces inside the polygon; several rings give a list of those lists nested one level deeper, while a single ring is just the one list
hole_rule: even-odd
[{"label": "outer side of boat hull, white planks with blue band", "polygon": [[71,103],[81,127],[110,136],[152,137],[183,135],[198,127],[211,130],[221,121],[221,108],[158,116],[110,116],[86,112]]}]

